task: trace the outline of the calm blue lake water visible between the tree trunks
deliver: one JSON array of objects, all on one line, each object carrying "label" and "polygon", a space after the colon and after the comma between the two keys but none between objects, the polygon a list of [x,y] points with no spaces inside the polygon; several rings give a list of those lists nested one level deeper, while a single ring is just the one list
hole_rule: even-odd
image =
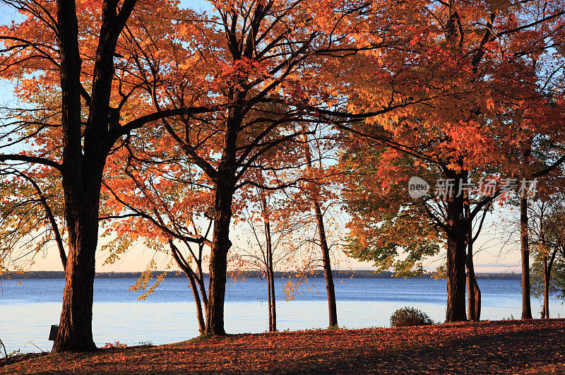
[{"label": "calm blue lake water visible between the tree trunks", "polygon": [[[119,341],[127,345],[155,345],[198,335],[195,306],[186,279],[165,279],[145,301],[128,290],[134,279],[96,279],[93,331],[97,345]],[[295,301],[285,302],[287,279],[276,279],[277,326],[299,330],[328,326],[328,304],[323,279],[310,280]],[[478,280],[482,319],[521,316],[519,280]],[[0,339],[8,353],[50,350],[49,327],[59,323],[64,280],[4,281],[0,294]],[[336,280],[338,322],[347,328],[388,326],[393,311],[414,306],[435,321],[445,319],[446,282],[431,279]],[[540,316],[541,302],[532,308]],[[565,316],[565,305],[552,300],[550,314]],[[225,328],[228,333],[259,333],[268,329],[266,282],[246,279],[227,286]],[[37,345],[35,347],[34,345]],[[1,356],[0,356],[1,357]]]}]

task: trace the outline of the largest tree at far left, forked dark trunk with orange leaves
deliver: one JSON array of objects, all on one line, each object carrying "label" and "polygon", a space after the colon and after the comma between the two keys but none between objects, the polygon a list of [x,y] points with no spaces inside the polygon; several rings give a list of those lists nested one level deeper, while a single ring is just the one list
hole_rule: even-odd
[{"label": "largest tree at far left, forked dark trunk with orange leaves", "polygon": [[[136,0],[78,6],[73,0],[3,3],[23,15],[21,21],[2,27],[0,35],[1,76],[16,82],[15,94],[23,105],[5,109],[8,121],[2,125],[0,161],[18,173],[32,174],[40,168],[59,179],[68,251],[53,350],[95,350],[93,281],[107,158],[117,141],[151,121],[208,109],[155,112],[146,105],[137,78],[144,66],[124,56],[131,57],[129,38],[150,36],[141,26],[155,20],[157,4],[137,5]],[[158,6],[167,10],[160,12],[159,20],[176,9],[168,3]],[[132,13],[135,22],[130,20]],[[155,23],[155,28],[165,24]],[[162,32],[167,30],[171,29]],[[18,152],[9,152],[14,149]]]}]

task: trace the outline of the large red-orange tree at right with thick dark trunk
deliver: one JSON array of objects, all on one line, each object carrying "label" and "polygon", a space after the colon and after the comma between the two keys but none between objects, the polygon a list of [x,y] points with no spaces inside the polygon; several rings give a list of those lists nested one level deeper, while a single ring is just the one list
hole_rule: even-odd
[{"label": "large red-orange tree at right with thick dark trunk", "polygon": [[[532,109],[529,114],[533,117],[527,119],[539,120],[541,112],[547,114],[545,81],[538,79],[543,76],[540,71],[547,71],[529,61],[551,54],[549,46],[560,39],[563,14],[561,4],[537,1],[520,6],[487,2],[470,6],[448,1],[429,8],[433,18],[429,23],[434,26],[412,40],[415,49],[421,47],[420,54],[411,60],[411,74],[399,77],[396,85],[410,86],[421,80],[437,96],[379,122],[341,126],[390,148],[390,159],[395,153],[405,153],[418,165],[436,165],[445,179],[453,181],[453,189],[446,195],[447,220],[436,220],[447,239],[447,321],[466,319],[468,227],[492,201],[485,199],[465,215],[465,198],[458,191],[468,184],[475,169],[479,174],[490,171],[513,176],[509,165],[489,155],[505,157],[516,150],[504,137],[519,128],[521,107]],[[422,56],[426,57],[420,60]],[[559,120],[551,124],[555,129]]]}]

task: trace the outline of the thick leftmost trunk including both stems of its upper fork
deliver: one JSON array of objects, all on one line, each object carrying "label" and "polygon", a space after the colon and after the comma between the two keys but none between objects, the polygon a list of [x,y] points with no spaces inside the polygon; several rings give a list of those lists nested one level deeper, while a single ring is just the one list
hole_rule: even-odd
[{"label": "thick leftmost trunk including both stems of its upper fork", "polygon": [[[127,3],[127,4],[125,4]],[[116,138],[109,128],[117,126],[119,114],[109,117],[109,98],[114,76],[114,50],[135,1],[124,2],[117,19],[117,3],[104,1],[100,38],[95,56],[88,120],[83,124],[81,108],[81,56],[78,48],[78,20],[73,0],[57,1],[57,39],[61,81],[61,131],[63,153],[61,177],[69,254],[65,266],[65,287],[59,331],[53,351],[95,350],[93,341],[93,290],[95,251],[98,239],[98,211],[102,172]]]}]

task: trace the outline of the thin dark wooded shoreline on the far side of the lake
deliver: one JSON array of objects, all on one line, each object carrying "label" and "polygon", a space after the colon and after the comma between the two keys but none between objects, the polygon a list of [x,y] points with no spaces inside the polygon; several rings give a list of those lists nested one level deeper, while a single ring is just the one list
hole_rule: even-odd
[{"label": "thin dark wooded shoreline on the far side of the lake", "polygon": [[[157,277],[165,273],[165,278],[186,278],[186,275],[177,271],[153,271],[153,277]],[[245,278],[261,278],[261,273],[248,272],[245,273]],[[102,272],[96,273],[95,278],[99,279],[126,279],[126,278],[139,278],[141,272]],[[208,277],[208,274],[204,274]],[[295,272],[275,272],[275,278],[294,278]],[[371,270],[334,270],[334,278],[356,278],[356,279],[387,279],[394,278],[392,272],[373,273]],[[230,273],[228,273],[230,277]],[[309,273],[308,278],[323,278],[323,271],[317,270],[314,273]],[[519,280],[522,275],[520,273],[477,273],[477,279],[495,279],[495,280]],[[63,271],[30,271],[28,273],[4,273],[0,279],[64,279],[65,274]],[[432,273],[425,273],[422,278],[432,278]]]}]

